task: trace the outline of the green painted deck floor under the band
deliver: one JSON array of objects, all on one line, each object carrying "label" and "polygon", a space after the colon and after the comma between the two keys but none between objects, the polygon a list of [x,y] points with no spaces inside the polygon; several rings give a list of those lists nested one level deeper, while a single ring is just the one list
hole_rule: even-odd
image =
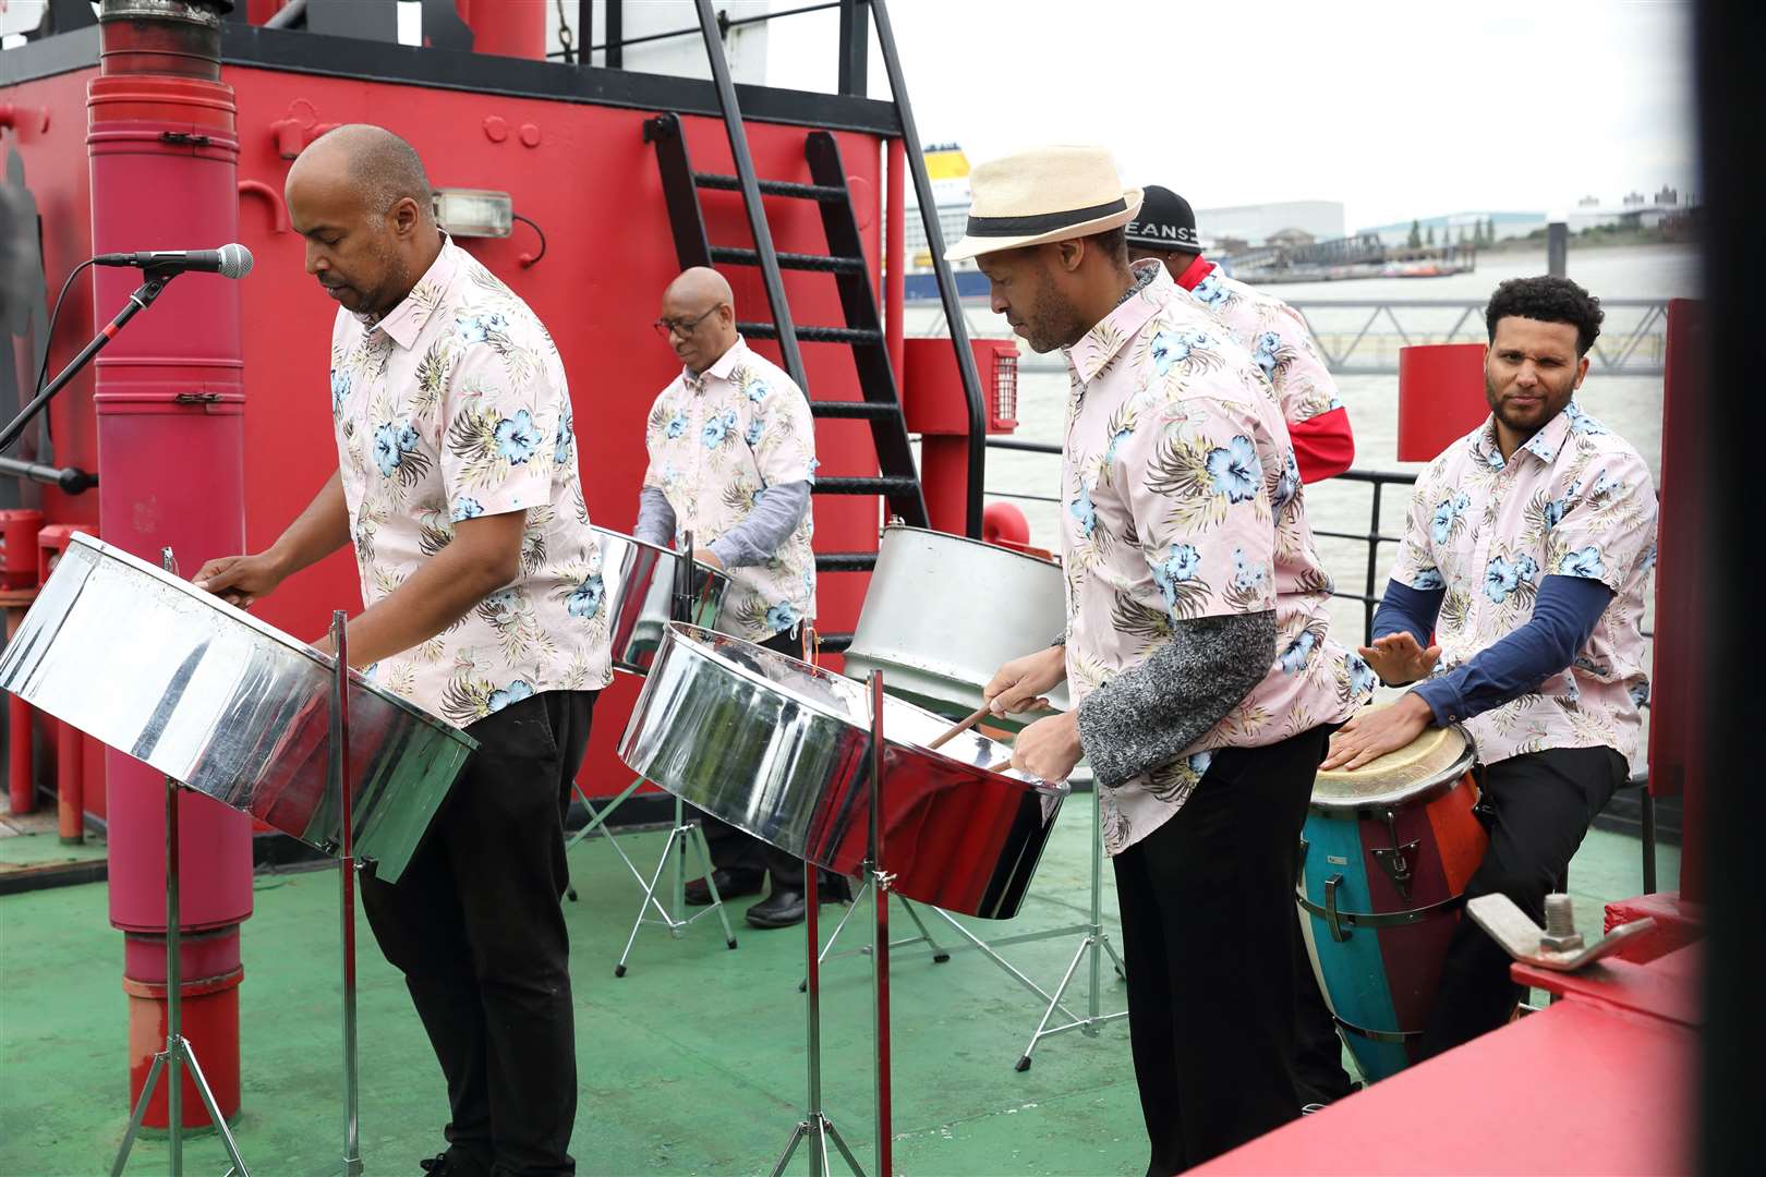
[{"label": "green painted deck floor under the band", "polygon": [[[1088,796],[1056,828],[1024,912],[1008,925],[964,921],[984,937],[1084,919],[1090,877]],[[49,835],[0,838],[0,863],[60,854]],[[634,859],[655,863],[660,833],[622,835]],[[28,847],[28,849],[26,849]],[[1679,877],[1660,847],[1662,888]],[[1570,868],[1577,919],[1600,926],[1600,905],[1642,889],[1639,843],[1591,831]],[[715,919],[671,941],[646,926],[625,978],[613,976],[639,888],[599,840],[570,852],[583,895],[567,905],[576,990],[579,1101],[572,1152],[583,1173],[765,1173],[804,1105],[802,928],[756,932],[731,907],[740,948]],[[1106,866],[1106,926],[1114,886]],[[254,1173],[327,1173],[343,1142],[337,877],[334,870],[265,873],[244,928],[240,988],[244,1099],[235,1122]],[[867,909],[869,911],[869,909]],[[841,907],[823,907],[823,933]],[[911,925],[894,912],[897,935]],[[934,923],[947,946],[959,942]],[[369,1173],[415,1173],[442,1149],[447,1105],[427,1039],[397,974],[380,958],[366,919],[360,944],[362,1156]],[[839,948],[865,941],[848,926]],[[1021,944],[1005,955],[1045,988],[1077,935]],[[127,1124],[122,935],[106,923],[104,884],[0,898],[0,1173],[101,1173]],[[823,1085],[835,1126],[865,1170],[871,1128],[869,958],[830,960],[823,972]],[[1070,999],[1084,1006],[1084,971]],[[1104,1009],[1121,985],[1104,969]],[[924,948],[897,948],[892,969],[895,1168],[904,1173],[1139,1173],[1146,1165],[1127,1023],[1097,1038],[1045,1039],[1035,1066],[1014,1062],[1040,1004],[975,951],[934,965]],[[129,1172],[164,1172],[164,1138],[136,1145]],[[835,1161],[837,1165],[837,1161]],[[226,1170],[219,1138],[185,1143],[189,1172]],[[809,1172],[800,1151],[791,1172]],[[839,1170],[835,1170],[839,1172]]]}]

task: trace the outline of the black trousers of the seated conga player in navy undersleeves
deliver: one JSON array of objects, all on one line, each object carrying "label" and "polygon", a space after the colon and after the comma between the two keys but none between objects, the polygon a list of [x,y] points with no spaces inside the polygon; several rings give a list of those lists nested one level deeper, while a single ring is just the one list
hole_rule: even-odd
[{"label": "black trousers of the seated conga player in navy undersleeves", "polygon": [[[1625,757],[1612,748],[1549,748],[1485,766],[1475,812],[1489,828],[1491,847],[1466,884],[1466,898],[1503,893],[1543,925],[1545,896],[1625,776]],[[1460,918],[1423,1029],[1425,1059],[1508,1022],[1524,995],[1508,979],[1510,963],[1476,921]]]}]

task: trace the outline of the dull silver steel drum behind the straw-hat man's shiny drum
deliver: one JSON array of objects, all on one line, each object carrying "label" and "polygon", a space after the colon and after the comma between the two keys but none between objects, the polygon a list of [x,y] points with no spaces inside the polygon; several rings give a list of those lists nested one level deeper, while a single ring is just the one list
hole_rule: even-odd
[{"label": "dull silver steel drum behind the straw-hat man's shiny drum", "polygon": [[[1054,561],[890,524],[846,651],[846,672],[862,679],[883,671],[888,693],[961,718],[982,706],[982,686],[994,671],[1045,648],[1065,628],[1067,586]],[[1068,709],[1065,683],[1049,704]]]}]

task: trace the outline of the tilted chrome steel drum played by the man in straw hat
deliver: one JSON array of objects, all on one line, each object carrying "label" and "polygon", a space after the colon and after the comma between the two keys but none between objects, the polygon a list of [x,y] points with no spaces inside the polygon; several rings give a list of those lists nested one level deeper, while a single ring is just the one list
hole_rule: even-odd
[{"label": "tilted chrome steel drum played by the man in straw hat", "polygon": [[[927,750],[947,727],[885,699],[883,866],[911,900],[1010,919],[1068,789],[987,771],[1010,750],[973,731]],[[687,625],[669,626],[620,738],[645,778],[844,875],[865,859],[869,757],[864,686]]]}]

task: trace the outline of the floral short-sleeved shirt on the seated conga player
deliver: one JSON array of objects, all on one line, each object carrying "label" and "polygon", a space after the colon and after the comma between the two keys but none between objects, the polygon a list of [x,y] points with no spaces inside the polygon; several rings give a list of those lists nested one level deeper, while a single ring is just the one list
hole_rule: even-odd
[{"label": "floral short-sleeved shirt on the seated conga player", "polygon": [[1543,748],[1637,755],[1639,708],[1649,697],[1641,621],[1655,521],[1644,459],[1575,401],[1506,462],[1487,418],[1416,480],[1392,579],[1445,589],[1436,674],[1526,625],[1547,575],[1612,589],[1570,667],[1464,722],[1483,764]]}]

